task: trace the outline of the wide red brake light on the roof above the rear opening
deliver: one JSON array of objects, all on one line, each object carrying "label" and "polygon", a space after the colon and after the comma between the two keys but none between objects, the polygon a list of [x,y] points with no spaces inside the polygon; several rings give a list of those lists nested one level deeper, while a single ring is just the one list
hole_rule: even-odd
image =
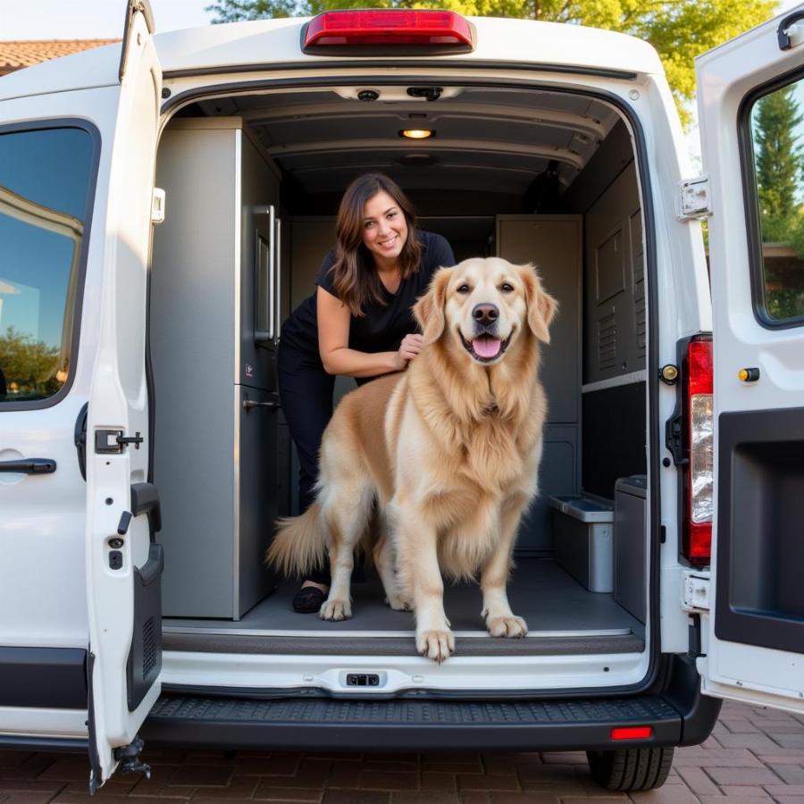
[{"label": "wide red brake light on the roof above the rear opening", "polygon": [[368,9],[324,12],[307,24],[304,49],[332,45],[430,45],[472,48],[472,29],[448,11]]}]

